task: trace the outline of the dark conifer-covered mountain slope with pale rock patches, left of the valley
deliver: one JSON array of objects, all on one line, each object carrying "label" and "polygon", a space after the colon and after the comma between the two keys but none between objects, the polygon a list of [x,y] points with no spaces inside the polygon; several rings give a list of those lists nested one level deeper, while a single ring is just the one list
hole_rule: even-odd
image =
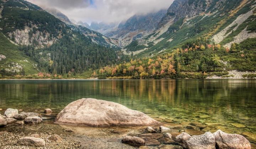
[{"label": "dark conifer-covered mountain slope with pale rock patches, left of the valley", "polygon": [[24,0],[0,0],[0,7],[1,76],[82,73],[121,60],[116,39],[65,23]]}]

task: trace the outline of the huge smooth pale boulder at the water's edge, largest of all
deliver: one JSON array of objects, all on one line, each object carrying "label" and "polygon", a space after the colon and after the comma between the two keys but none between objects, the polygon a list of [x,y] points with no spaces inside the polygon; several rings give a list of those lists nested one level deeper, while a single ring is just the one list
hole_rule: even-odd
[{"label": "huge smooth pale boulder at the water's edge, largest of all", "polygon": [[160,122],[121,104],[83,98],[67,105],[54,123],[76,126],[145,126]]}]

